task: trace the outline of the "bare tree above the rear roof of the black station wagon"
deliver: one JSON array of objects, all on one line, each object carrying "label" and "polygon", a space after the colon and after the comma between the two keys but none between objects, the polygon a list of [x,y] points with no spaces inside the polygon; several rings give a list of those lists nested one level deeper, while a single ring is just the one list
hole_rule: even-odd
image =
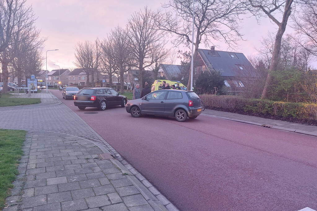
[{"label": "bare tree above the rear roof of the black station wagon", "polygon": [[[84,43],[78,42],[75,45],[75,59],[74,64],[82,68],[87,74],[87,85],[94,84],[94,76],[99,68],[99,57],[100,57],[100,44],[99,40],[96,39],[94,43],[85,41]],[[90,82],[89,82],[90,76]]]}]

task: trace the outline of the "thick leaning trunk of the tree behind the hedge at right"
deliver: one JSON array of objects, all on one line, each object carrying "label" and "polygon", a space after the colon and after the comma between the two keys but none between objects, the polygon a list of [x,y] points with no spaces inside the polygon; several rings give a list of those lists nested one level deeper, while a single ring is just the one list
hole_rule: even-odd
[{"label": "thick leaning trunk of the tree behind the hedge at right", "polygon": [[284,7],[285,10],[284,10],[284,14],[283,14],[283,19],[282,19],[282,22],[280,23],[279,29],[276,33],[274,49],[273,49],[273,54],[272,54],[272,61],[271,61],[270,69],[268,70],[268,76],[267,76],[266,81],[265,81],[265,85],[263,88],[261,99],[264,99],[267,97],[268,88],[272,82],[272,72],[275,71],[279,65],[279,57],[280,57],[280,52],[281,52],[281,40],[282,40],[282,36],[285,32],[288,17],[289,17],[289,15],[291,15],[292,3],[293,3],[293,0],[288,0],[285,4],[285,7]]}]

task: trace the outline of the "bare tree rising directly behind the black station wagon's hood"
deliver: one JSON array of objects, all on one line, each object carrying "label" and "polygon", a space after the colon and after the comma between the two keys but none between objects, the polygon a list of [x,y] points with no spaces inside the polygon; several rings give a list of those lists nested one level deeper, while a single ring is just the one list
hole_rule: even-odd
[{"label": "bare tree rising directly behind the black station wagon's hood", "polygon": [[120,92],[124,92],[124,74],[133,66],[132,47],[128,38],[128,30],[116,27],[109,36],[114,43],[114,61],[120,75]]}]

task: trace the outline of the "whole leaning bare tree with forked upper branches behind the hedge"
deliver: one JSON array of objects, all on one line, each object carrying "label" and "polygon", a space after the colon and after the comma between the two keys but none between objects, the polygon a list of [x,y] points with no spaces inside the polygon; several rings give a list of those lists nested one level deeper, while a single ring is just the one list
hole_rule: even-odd
[{"label": "whole leaning bare tree with forked upper branches behind the hedge", "polygon": [[[248,0],[250,3],[250,12],[256,17],[267,16],[277,26],[278,30],[275,36],[272,61],[268,71],[268,76],[263,87],[261,98],[266,98],[268,87],[272,82],[272,72],[278,68],[279,56],[281,52],[281,40],[285,32],[288,18],[292,12],[292,6],[295,8],[298,4],[308,3],[310,0]],[[282,15],[281,21],[278,16]]]}]

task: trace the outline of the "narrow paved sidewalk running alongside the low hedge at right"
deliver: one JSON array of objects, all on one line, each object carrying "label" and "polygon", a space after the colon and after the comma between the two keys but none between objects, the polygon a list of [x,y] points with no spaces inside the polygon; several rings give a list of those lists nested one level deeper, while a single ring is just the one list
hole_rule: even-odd
[{"label": "narrow paved sidewalk running alongside the low hedge at right", "polygon": [[[307,124],[299,124],[299,123],[291,123],[287,121],[282,120],[275,120],[275,119],[267,119],[267,118],[261,118],[261,117],[255,117],[255,116],[249,116],[249,115],[243,115],[243,114],[237,114],[237,113],[230,113],[230,112],[221,112],[221,111],[215,111],[215,110],[209,110],[206,109],[202,112],[203,115],[211,115],[219,118],[230,118],[233,120],[242,120],[242,121],[249,121],[254,122],[259,125],[266,124],[266,125],[272,125],[276,126],[276,128],[288,128],[294,131],[307,131],[307,134],[310,135],[316,135],[317,136],[317,126],[315,125],[307,125]],[[301,132],[302,133],[302,132]]]}]

